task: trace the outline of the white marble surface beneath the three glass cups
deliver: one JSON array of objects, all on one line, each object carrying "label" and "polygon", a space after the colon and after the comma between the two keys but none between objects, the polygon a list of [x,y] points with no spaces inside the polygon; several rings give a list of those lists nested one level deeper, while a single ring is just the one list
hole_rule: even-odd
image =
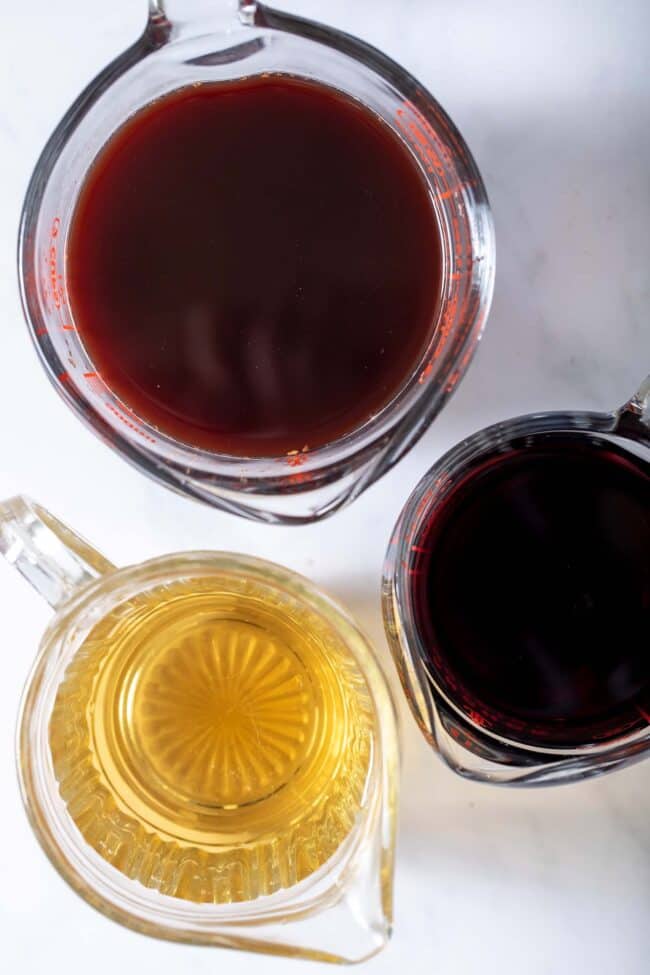
[{"label": "white marble surface beneath the three glass cups", "polygon": [[[292,0],[385,48],[455,119],[498,236],[488,329],[462,388],[416,450],[352,509],[300,531],[174,497],[113,456],[47,384],[22,322],[21,199],[53,124],[136,34],[145,0],[0,4],[0,496],[29,491],[116,562],[226,548],[280,559],[339,595],[386,655],[384,547],[417,478],[485,423],[613,407],[650,367],[647,0]],[[265,975],[320,966],[176,947],[112,924],[41,854],[13,733],[48,611],[0,565],[0,969]],[[404,715],[396,929],[373,975],[647,975],[650,763],[558,790],[456,780]],[[323,968],[323,971],[326,969]]]}]

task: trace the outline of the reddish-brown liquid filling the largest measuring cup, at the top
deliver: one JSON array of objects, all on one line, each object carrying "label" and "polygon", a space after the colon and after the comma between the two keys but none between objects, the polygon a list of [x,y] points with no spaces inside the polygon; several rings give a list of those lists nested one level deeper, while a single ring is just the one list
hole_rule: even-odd
[{"label": "reddish-brown liquid filling the largest measuring cup, at the top", "polygon": [[400,139],[331,89],[185,88],[105,147],[71,228],[74,320],[141,418],[238,456],[363,425],[416,369],[438,225]]}]

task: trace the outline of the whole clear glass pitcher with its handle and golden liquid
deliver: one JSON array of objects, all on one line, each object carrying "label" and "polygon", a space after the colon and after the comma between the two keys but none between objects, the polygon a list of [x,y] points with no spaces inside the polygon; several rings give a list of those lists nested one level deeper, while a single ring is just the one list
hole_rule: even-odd
[{"label": "whole clear glass pitcher with its handle and golden liquid", "polygon": [[175,941],[330,962],[381,950],[396,716],[345,613],[244,556],[117,569],[22,497],[0,504],[0,554],[56,610],[18,769],[77,893]]}]

